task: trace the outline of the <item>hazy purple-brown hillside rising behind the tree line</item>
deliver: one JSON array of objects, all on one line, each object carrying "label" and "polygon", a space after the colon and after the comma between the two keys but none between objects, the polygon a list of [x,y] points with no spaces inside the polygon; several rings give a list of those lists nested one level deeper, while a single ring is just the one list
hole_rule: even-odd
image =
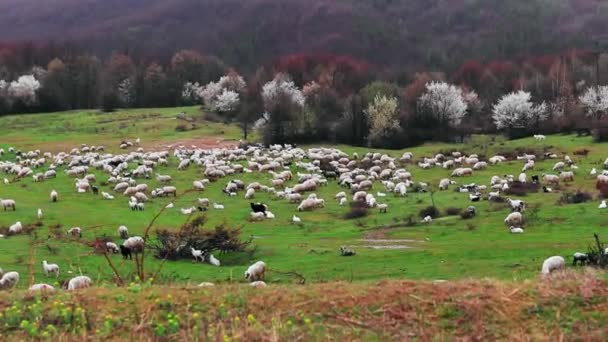
[{"label": "hazy purple-brown hillside rising behind the tree line", "polygon": [[181,48],[232,65],[301,52],[450,68],[463,60],[593,46],[598,0],[0,0],[0,41],[77,41],[166,58]]}]

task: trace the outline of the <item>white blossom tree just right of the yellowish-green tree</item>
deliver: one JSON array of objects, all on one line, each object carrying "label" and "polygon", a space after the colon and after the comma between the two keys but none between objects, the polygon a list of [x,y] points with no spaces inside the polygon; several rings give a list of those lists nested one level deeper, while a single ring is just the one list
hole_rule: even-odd
[{"label": "white blossom tree just right of the yellowish-green tree", "polygon": [[458,125],[467,112],[468,102],[477,100],[477,94],[469,93],[465,98],[462,89],[445,82],[426,84],[426,92],[418,99],[418,104],[442,125]]}]

